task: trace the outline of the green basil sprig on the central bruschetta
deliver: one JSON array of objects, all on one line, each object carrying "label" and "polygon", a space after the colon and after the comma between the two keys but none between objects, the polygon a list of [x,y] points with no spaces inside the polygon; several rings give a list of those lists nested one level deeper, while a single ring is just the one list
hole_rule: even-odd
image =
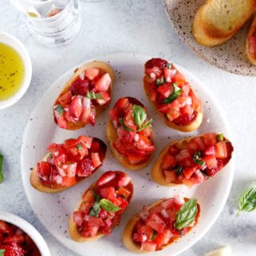
[{"label": "green basil sprig on the central bruschetta", "polygon": [[135,105],[133,106],[133,118],[135,124],[138,126],[137,130],[133,130],[130,127],[126,126],[125,123],[123,122],[122,118],[119,118],[119,122],[121,123],[122,127],[125,130],[128,131],[141,131],[143,129],[146,129],[146,127],[150,126],[151,123],[153,122],[153,118],[151,118],[146,124],[143,126],[143,123],[146,121],[147,114],[146,110],[142,108],[142,106]]}]

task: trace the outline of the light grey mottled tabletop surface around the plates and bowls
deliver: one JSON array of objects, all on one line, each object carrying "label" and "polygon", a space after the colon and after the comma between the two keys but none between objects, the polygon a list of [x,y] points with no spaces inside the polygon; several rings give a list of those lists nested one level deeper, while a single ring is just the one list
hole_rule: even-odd
[{"label": "light grey mottled tabletop surface around the plates and bowls", "polygon": [[[41,95],[70,67],[114,52],[150,54],[177,62],[204,82],[226,114],[233,134],[235,174],[230,197],[206,236],[181,255],[203,255],[223,245],[232,247],[232,255],[256,254],[255,213],[236,217],[239,195],[256,180],[256,78],[219,70],[188,50],[166,18],[160,0],[82,2],[82,33],[70,46],[60,49],[39,46],[26,30],[26,18],[18,14],[9,1],[1,3],[0,30],[15,35],[25,44],[33,64],[33,76],[25,96],[14,106],[0,111],[0,153],[5,158],[0,210],[18,214],[34,225],[46,239],[52,255],[76,255],[46,231],[26,199],[20,174],[20,150],[26,122]],[[45,210],[48,207],[45,206]]]}]

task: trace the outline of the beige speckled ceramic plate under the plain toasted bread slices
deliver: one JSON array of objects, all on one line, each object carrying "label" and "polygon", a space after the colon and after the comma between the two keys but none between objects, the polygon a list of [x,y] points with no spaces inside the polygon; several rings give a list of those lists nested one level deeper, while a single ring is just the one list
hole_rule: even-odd
[{"label": "beige speckled ceramic plate under the plain toasted bread slices", "polygon": [[194,40],[192,24],[194,15],[205,0],[163,0],[167,17],[174,26],[182,42],[201,58],[222,70],[234,74],[256,76],[256,66],[250,64],[246,58],[246,36],[250,22],[247,22],[237,34],[221,46],[212,48],[200,46]]}]

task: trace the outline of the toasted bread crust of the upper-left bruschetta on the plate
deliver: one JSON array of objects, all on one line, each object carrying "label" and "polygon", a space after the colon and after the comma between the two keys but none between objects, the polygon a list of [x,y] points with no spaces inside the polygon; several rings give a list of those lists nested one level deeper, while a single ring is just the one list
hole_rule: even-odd
[{"label": "toasted bread crust of the upper-left bruschetta on the plate", "polygon": [[[104,72],[110,74],[110,78],[112,80],[112,82],[110,84],[110,88],[109,88],[110,102],[111,102],[111,98],[112,98],[111,96],[112,96],[112,92],[113,92],[113,82],[114,82],[114,70],[112,70],[111,66],[108,65],[107,63],[98,62],[98,61],[86,63],[83,66],[79,67],[78,69],[74,70],[74,74],[68,80],[68,82],[66,82],[66,85],[63,87],[61,93],[58,94],[58,98],[62,94],[65,94],[68,90],[70,90],[70,86],[75,81],[75,79],[78,78],[79,74],[81,74],[83,71],[85,71],[89,68],[98,68],[99,70],[103,70]],[[58,98],[54,102],[54,106],[58,104]],[[103,106],[96,106],[97,115],[101,114],[103,110],[106,110],[106,108],[110,105],[110,102],[108,102],[106,105],[103,105]],[[57,124],[57,121],[55,118],[54,118],[54,122]],[[86,126],[86,124],[84,122],[82,122],[81,120],[78,120],[78,122],[76,122],[76,123],[66,120],[66,130],[78,130],[84,126]]]}]

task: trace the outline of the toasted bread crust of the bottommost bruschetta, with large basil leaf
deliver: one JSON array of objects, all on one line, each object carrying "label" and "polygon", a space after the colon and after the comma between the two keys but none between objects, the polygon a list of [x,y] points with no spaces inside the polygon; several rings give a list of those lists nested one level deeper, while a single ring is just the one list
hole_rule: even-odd
[{"label": "toasted bread crust of the bottommost bruschetta, with large basil leaf", "polygon": [[[157,202],[154,202],[152,205],[147,206],[146,208],[148,210],[150,210],[151,208],[153,208],[154,206],[157,206],[158,204],[160,204],[161,202],[165,201],[166,198],[162,198],[160,200],[158,200]],[[198,218],[200,216],[200,206],[198,204],[198,214],[195,218],[195,223],[198,222]],[[144,251],[140,249],[140,246],[138,246],[138,244],[136,244],[133,240],[133,230],[134,230],[134,226],[136,225],[136,223],[140,220],[140,214],[135,214],[134,217],[130,218],[130,220],[127,222],[125,230],[123,231],[122,234],[122,242],[123,244],[126,246],[126,248],[130,251],[132,251],[133,253],[136,254],[148,254],[148,251]],[[193,229],[193,227],[190,227],[190,230]],[[178,240],[178,238],[172,240],[169,244],[167,244],[166,246],[170,246],[170,244],[172,242],[174,242],[175,240]],[[162,249],[164,249],[166,246],[162,246]],[[162,250],[161,249],[161,250]]]}]

